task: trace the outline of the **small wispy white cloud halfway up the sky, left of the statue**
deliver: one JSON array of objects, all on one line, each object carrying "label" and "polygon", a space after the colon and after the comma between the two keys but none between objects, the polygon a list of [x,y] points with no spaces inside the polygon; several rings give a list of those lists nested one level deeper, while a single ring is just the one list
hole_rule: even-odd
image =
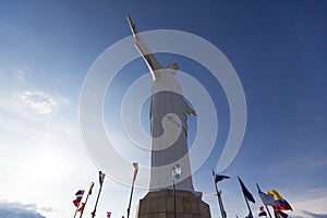
[{"label": "small wispy white cloud halfway up the sky, left of the statue", "polygon": [[20,95],[21,100],[32,107],[36,112],[50,113],[58,104],[57,101],[43,92],[26,90]]}]

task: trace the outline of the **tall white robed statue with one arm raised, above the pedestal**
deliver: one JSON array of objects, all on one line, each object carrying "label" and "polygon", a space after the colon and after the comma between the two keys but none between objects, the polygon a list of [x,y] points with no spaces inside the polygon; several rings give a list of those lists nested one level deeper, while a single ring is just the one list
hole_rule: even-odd
[{"label": "tall white robed statue with one arm raised, above the pedestal", "polygon": [[[130,16],[128,16],[128,21],[135,38],[135,47],[146,62],[153,78],[149,114],[152,135],[149,191],[169,189],[171,166],[178,162],[182,166],[185,177],[182,175],[181,181],[175,184],[175,189],[195,192],[187,155],[187,117],[196,116],[196,112],[185,101],[181,85],[174,77],[179,65],[171,62],[167,66],[161,66],[137,34]],[[181,160],[182,157],[185,158]]]}]

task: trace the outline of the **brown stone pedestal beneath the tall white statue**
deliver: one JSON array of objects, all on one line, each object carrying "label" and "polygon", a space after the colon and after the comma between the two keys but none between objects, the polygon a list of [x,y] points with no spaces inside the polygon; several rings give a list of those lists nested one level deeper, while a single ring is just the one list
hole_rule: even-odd
[{"label": "brown stone pedestal beneath the tall white statue", "polygon": [[[190,191],[175,191],[175,218],[211,218],[209,205]],[[136,218],[174,218],[172,190],[149,192],[140,199]]]}]

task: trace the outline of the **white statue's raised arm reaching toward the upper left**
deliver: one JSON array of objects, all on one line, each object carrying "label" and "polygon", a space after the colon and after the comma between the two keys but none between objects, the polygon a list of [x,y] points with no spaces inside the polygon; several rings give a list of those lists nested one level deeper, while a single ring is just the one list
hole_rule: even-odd
[{"label": "white statue's raised arm reaching toward the upper left", "polygon": [[147,45],[144,43],[144,40],[141,38],[141,36],[138,36],[137,29],[135,27],[135,24],[132,22],[131,16],[128,16],[128,21],[129,21],[131,31],[133,33],[133,36],[135,38],[135,47],[137,48],[138,52],[143,57],[143,59],[145,60],[149,71],[153,75],[153,80],[156,81],[159,76],[156,71],[162,69],[162,66],[160,65],[157,58],[152,53],[152,51],[149,50]]}]

